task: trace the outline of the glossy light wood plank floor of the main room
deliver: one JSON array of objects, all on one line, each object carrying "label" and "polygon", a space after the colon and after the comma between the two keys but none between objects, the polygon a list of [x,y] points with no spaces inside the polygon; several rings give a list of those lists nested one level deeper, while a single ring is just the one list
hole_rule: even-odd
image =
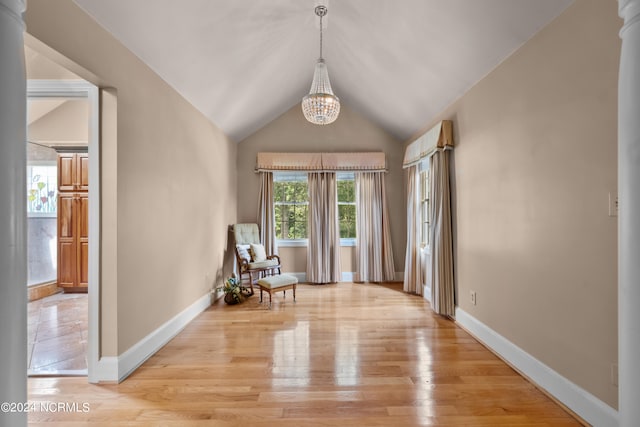
[{"label": "glossy light wood plank floor of the main room", "polygon": [[119,385],[31,378],[42,426],[578,426],[401,285],[301,285],[221,300]]}]

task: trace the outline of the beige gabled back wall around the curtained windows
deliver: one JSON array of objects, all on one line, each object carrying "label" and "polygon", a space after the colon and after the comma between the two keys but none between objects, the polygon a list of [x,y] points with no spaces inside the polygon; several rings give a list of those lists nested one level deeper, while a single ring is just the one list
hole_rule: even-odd
[{"label": "beige gabled back wall around the curtained windows", "polygon": [[[265,152],[358,152],[384,151],[389,173],[386,175],[387,197],[391,217],[391,239],[395,270],[404,270],[404,242],[406,240],[406,210],[402,192],[403,174],[402,142],[369,122],[355,111],[342,105],[340,117],[329,126],[308,123],[299,104],[267,126],[249,136],[238,146],[238,220],[255,222],[258,212],[259,177],[255,173],[256,155]],[[343,248],[343,271],[353,271],[352,248]],[[291,248],[285,253],[296,252],[295,264],[282,256],[285,269],[306,271],[306,250]],[[304,264],[302,264],[304,260]],[[302,269],[301,269],[302,268]],[[351,268],[351,270],[347,270]],[[290,270],[287,270],[290,271]]]}]

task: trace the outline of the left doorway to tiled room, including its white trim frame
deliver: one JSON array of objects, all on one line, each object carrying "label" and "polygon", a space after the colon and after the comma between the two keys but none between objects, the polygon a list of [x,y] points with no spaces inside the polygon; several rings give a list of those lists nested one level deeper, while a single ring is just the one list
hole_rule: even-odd
[{"label": "left doorway to tiled room, including its white trim frame", "polygon": [[[98,89],[28,80],[27,105],[29,375],[90,375],[98,354]],[[67,185],[69,177],[78,183]]]}]

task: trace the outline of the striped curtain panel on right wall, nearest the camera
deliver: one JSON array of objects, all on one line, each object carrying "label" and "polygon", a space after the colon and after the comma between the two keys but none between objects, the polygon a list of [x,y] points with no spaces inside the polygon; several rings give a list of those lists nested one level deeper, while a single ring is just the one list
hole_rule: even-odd
[{"label": "striped curtain panel on right wall, nearest the camera", "polygon": [[451,187],[449,162],[451,153],[438,149],[431,156],[431,306],[443,316],[455,316],[453,282],[453,233],[451,227]]}]

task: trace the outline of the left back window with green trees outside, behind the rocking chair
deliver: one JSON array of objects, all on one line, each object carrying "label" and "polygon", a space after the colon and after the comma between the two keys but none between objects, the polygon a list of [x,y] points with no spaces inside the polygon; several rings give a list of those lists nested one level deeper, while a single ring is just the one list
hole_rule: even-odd
[{"label": "left back window with green trees outside, behind the rocking chair", "polygon": [[307,174],[274,172],[273,191],[276,239],[306,239],[309,212]]}]

